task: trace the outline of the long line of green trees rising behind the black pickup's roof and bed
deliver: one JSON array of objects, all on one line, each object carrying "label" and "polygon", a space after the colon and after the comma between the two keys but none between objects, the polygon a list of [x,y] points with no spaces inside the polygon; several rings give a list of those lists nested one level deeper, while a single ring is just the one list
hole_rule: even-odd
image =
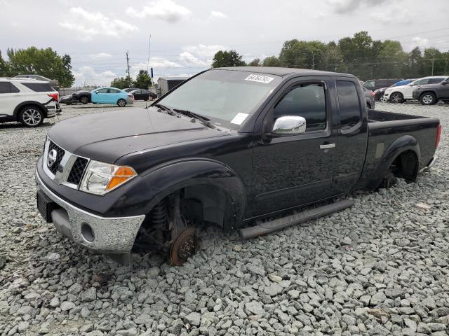
[{"label": "long line of green trees rising behind the black pickup's roof and bed", "polygon": [[352,73],[361,80],[373,78],[420,78],[448,75],[449,52],[416,47],[405,52],[399,41],[373,40],[368,31],[331,41],[285,41],[279,56],[256,58],[246,64],[235,50],[220,50],[212,66],[286,66]]}]

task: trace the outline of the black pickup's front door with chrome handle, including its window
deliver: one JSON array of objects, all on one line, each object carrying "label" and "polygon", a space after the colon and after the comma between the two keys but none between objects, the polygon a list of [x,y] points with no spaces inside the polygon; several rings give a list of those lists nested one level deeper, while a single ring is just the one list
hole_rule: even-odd
[{"label": "black pickup's front door with chrome handle, including its window", "polygon": [[[330,96],[324,80],[293,81],[274,100],[265,116],[272,129],[276,118],[302,116],[303,134],[268,137],[253,151],[253,215],[288,209],[333,195],[335,134]],[[268,119],[267,119],[268,118]]]}]

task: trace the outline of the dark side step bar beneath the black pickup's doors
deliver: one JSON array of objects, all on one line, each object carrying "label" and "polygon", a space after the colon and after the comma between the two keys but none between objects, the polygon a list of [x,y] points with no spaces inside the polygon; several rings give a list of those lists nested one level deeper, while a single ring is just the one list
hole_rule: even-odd
[{"label": "dark side step bar beneath the black pickup's doors", "polygon": [[353,205],[354,201],[351,200],[343,200],[332,204],[323,205],[323,207],[302,211],[298,214],[275,219],[274,221],[260,223],[249,228],[240,229],[239,235],[243,239],[254,238],[276,230],[288,228],[292,225],[304,223],[310,221],[311,219],[333,214],[334,212],[352,207]]}]

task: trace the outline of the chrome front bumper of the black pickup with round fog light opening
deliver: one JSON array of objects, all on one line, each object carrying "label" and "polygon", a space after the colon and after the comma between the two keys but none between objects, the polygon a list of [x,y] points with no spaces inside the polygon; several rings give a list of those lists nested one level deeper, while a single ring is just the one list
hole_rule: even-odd
[{"label": "chrome front bumper of the black pickup with round fog light opening", "polygon": [[[74,243],[101,253],[129,253],[145,215],[131,217],[101,217],[74,207],[55,195],[42,182],[36,170],[36,188],[57,204],[51,221],[62,235]],[[86,232],[86,225],[91,232]],[[89,233],[93,233],[89,235]],[[93,239],[92,239],[93,238]]]}]

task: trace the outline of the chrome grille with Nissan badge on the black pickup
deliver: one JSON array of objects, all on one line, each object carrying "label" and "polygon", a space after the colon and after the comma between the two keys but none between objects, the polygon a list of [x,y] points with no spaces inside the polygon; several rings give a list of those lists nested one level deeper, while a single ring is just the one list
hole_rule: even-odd
[{"label": "chrome grille with Nissan badge on the black pickup", "polygon": [[89,159],[61,148],[47,137],[43,153],[43,171],[57,184],[78,189]]}]

